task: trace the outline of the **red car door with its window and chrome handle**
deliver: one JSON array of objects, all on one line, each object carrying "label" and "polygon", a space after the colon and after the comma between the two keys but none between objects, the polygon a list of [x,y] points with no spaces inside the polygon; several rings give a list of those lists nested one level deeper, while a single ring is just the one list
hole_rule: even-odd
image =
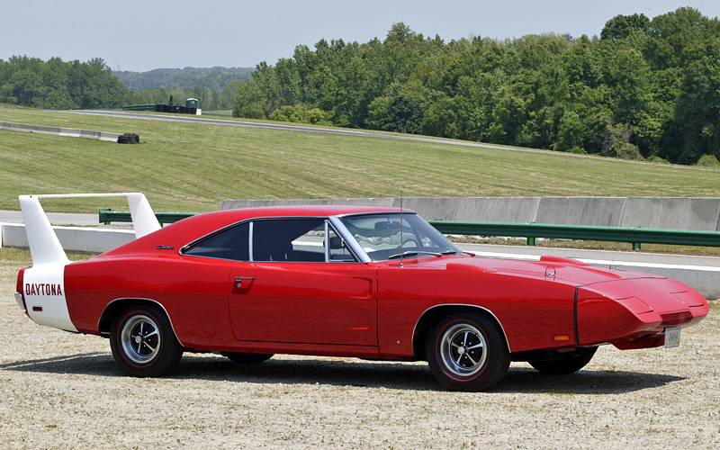
[{"label": "red car door with its window and chrome handle", "polygon": [[338,247],[323,219],[255,220],[251,259],[231,267],[235,338],[295,344],[377,346],[376,269]]}]

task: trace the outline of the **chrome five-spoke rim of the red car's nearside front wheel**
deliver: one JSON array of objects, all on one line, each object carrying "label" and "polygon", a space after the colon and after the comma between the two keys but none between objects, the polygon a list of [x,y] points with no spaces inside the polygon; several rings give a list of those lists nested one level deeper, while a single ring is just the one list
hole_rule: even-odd
[{"label": "chrome five-spoke rim of the red car's nearside front wheel", "polygon": [[479,329],[460,323],[440,338],[440,357],[447,370],[458,376],[472,376],[482,370],[487,359],[487,342]]}]

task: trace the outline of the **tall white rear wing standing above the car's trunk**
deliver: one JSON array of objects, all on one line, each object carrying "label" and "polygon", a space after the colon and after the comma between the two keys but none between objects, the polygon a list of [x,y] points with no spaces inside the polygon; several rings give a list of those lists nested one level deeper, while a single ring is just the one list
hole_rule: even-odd
[{"label": "tall white rear wing standing above the car's trunk", "polygon": [[142,193],[58,193],[40,195],[21,195],[20,209],[23,211],[25,233],[34,266],[49,263],[65,263],[67,255],[58,236],[50,225],[48,216],[40,205],[40,198],[70,197],[127,197],[130,205],[135,238],[142,238],[160,229],[160,223],[152,211],[148,199]]}]

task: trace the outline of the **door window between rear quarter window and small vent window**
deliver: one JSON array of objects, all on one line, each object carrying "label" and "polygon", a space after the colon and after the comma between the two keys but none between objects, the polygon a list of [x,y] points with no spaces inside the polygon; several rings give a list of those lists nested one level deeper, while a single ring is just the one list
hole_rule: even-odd
[{"label": "door window between rear quarter window and small vent window", "polygon": [[253,222],[253,261],[325,261],[325,220]]}]

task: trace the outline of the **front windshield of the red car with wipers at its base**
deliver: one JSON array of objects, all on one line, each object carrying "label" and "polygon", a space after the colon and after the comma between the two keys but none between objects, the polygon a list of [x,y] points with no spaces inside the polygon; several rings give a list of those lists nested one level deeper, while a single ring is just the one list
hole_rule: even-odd
[{"label": "front windshield of the red car with wipers at its base", "polygon": [[341,218],[373,261],[401,257],[433,257],[463,253],[417,214],[388,212]]}]

